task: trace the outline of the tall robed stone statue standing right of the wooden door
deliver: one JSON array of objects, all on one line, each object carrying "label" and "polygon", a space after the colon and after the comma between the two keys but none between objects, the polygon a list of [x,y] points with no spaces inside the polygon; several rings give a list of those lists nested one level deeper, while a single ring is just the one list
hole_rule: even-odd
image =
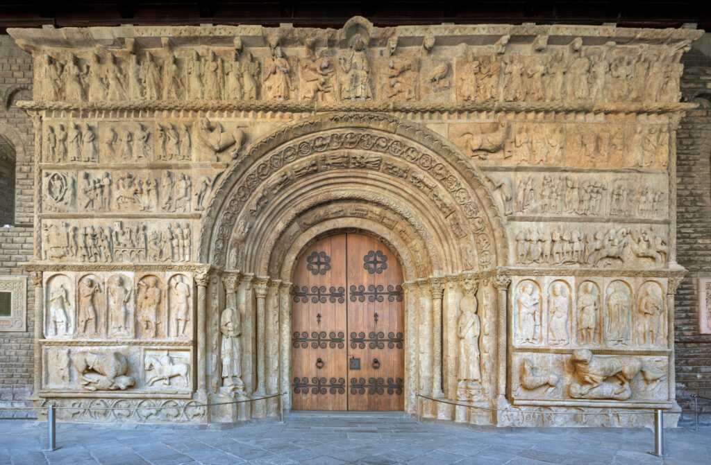
[{"label": "tall robed stone statue standing right of the wooden door", "polygon": [[459,336],[459,384],[457,398],[460,400],[476,397],[481,390],[481,359],[479,355],[479,334],[481,322],[476,314],[477,283],[466,280],[464,296],[459,300],[461,314],[457,320]]}]

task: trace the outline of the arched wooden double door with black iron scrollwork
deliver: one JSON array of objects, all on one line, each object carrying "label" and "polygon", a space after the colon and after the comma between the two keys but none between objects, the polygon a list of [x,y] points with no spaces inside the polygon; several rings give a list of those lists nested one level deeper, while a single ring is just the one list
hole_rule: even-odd
[{"label": "arched wooden double door with black iron scrollwork", "polygon": [[292,408],[403,410],[402,269],[363,234],[311,244],[294,270]]}]

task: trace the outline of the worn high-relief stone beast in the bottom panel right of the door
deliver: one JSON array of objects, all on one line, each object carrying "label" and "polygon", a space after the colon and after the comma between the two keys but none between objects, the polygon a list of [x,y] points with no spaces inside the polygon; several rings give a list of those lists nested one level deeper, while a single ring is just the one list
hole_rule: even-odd
[{"label": "worn high-relief stone beast in the bottom panel right of the door", "polygon": [[658,383],[664,372],[642,363],[634,356],[595,356],[588,349],[572,353],[574,382],[568,385],[572,398],[627,400],[632,397],[629,383],[641,373],[647,384]]}]

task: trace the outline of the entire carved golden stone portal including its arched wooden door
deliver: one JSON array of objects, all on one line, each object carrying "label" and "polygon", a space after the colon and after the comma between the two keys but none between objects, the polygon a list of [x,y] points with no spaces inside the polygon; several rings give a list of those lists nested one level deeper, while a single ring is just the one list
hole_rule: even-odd
[{"label": "entire carved golden stone portal including its arched wooden door", "polygon": [[34,248],[0,290],[33,315],[36,407],[679,411],[680,56],[701,31],[8,32],[33,60]]}]

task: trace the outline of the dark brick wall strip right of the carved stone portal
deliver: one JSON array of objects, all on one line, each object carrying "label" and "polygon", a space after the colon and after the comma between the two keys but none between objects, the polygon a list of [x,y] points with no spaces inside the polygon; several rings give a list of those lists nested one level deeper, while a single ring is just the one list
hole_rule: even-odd
[{"label": "dark brick wall strip right of the carved stone portal", "polygon": [[[683,56],[684,99],[699,104],[677,134],[677,257],[688,270],[675,298],[677,399],[682,422],[694,421],[692,395],[711,398],[711,335],[698,334],[699,276],[711,275],[711,34]],[[699,400],[700,422],[711,424],[711,401]]]}]

